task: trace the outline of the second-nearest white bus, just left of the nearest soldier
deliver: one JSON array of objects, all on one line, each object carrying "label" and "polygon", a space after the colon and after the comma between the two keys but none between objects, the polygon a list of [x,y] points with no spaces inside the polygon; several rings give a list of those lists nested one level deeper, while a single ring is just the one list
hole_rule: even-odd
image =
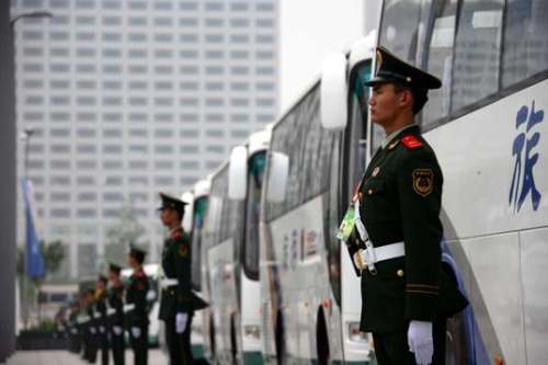
[{"label": "second-nearest white bus, just left of the nearest soldier", "polygon": [[[358,54],[370,69],[374,41],[370,35],[358,43],[351,59]],[[344,55],[339,64],[346,66]],[[344,88],[345,69],[336,71]],[[272,132],[260,265],[263,356],[272,364],[372,360],[369,338],[359,332],[359,280],[335,239],[365,168],[367,134],[362,124],[347,132],[323,128],[321,104],[332,100],[320,100],[320,90],[318,81]]]}]

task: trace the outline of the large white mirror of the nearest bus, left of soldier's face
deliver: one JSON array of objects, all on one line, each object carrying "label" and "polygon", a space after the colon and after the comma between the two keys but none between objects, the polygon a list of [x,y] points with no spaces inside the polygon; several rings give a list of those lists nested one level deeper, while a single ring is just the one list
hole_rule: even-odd
[{"label": "large white mirror of the nearest bus, left of soldier's face", "polygon": [[321,125],[326,129],[346,126],[346,57],[329,56],[321,72]]}]

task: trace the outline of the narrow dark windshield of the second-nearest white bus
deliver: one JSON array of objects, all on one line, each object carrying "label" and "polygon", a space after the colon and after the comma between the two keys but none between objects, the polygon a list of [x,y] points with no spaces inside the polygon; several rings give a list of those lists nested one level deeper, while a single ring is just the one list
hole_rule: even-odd
[{"label": "narrow dark windshield of the second-nearest white bus", "polygon": [[248,172],[243,270],[253,280],[259,280],[259,217],[261,213],[261,192],[265,162],[265,151],[255,153],[250,159]]}]

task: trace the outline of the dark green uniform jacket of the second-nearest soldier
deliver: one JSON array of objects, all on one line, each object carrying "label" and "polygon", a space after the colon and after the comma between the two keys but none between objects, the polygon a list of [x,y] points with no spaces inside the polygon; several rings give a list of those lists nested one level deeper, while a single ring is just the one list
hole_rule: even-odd
[{"label": "dark green uniform jacket of the second-nearest soldier", "polygon": [[175,278],[178,284],[162,289],[161,320],[192,310],[191,264],[191,240],[182,228],[175,229],[163,242],[162,269],[165,277]]}]

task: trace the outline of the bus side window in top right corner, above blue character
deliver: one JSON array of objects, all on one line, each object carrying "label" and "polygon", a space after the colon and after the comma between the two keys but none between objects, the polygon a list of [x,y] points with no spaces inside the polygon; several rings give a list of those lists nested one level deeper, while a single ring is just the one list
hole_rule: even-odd
[{"label": "bus side window in top right corner, above blue character", "polygon": [[509,1],[504,28],[502,85],[548,70],[548,3]]}]

